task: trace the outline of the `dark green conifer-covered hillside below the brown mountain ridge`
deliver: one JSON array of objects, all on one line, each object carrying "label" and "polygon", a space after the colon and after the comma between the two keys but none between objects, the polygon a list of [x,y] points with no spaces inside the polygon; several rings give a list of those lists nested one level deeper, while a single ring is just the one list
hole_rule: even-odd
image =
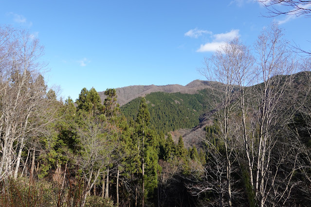
[{"label": "dark green conifer-covered hillside below the brown mountain ridge", "polygon": [[[210,89],[195,94],[154,92],[145,98],[151,115],[150,124],[158,133],[193,128],[199,124],[200,116],[213,108]],[[140,98],[137,98],[121,107],[128,119],[135,118],[139,102]]]}]

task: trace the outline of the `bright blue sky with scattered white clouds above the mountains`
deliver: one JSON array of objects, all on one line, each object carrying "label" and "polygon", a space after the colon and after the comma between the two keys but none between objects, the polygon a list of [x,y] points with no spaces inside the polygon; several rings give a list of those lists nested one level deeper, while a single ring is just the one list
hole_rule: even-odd
[{"label": "bright blue sky with scattered white clouds above the mountains", "polygon": [[45,46],[48,86],[64,99],[81,89],[186,85],[204,80],[203,58],[235,36],[253,45],[277,21],[311,48],[311,18],[262,17],[253,0],[0,0],[0,23],[29,29]]}]

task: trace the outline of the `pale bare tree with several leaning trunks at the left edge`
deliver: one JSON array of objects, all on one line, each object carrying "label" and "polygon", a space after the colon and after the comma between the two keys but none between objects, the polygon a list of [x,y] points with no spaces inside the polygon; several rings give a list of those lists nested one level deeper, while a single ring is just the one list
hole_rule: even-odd
[{"label": "pale bare tree with several leaning trunks at the left edge", "polygon": [[[43,47],[27,31],[0,27],[0,177],[17,178],[21,152],[52,121],[40,74]],[[31,120],[31,121],[30,121]]]}]

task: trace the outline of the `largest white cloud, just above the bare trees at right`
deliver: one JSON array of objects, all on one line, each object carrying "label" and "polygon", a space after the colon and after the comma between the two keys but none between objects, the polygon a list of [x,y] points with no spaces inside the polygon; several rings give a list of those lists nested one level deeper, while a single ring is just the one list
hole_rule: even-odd
[{"label": "largest white cloud, just above the bare trees at right", "polygon": [[219,50],[221,46],[225,45],[227,41],[239,36],[239,30],[231,30],[228,33],[211,35],[213,38],[212,42],[201,45],[197,52],[215,52]]}]

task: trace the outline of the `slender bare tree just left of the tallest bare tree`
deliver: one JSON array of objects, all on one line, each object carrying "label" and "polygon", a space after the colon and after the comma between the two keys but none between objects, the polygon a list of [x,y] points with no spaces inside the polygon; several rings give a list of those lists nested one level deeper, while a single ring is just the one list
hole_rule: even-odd
[{"label": "slender bare tree just left of the tallest bare tree", "polygon": [[232,206],[231,173],[233,162],[237,158],[235,145],[238,143],[235,140],[236,137],[233,136],[236,131],[234,116],[238,109],[238,104],[235,101],[238,93],[236,73],[241,71],[241,68],[247,68],[251,64],[251,56],[246,57],[244,52],[245,50],[239,43],[238,38],[233,39],[223,46],[220,51],[215,52],[211,58],[205,58],[205,68],[200,70],[201,74],[210,81],[212,86],[213,105],[216,106],[214,115],[219,128],[218,136],[224,145],[227,181],[226,197],[229,206]]}]

